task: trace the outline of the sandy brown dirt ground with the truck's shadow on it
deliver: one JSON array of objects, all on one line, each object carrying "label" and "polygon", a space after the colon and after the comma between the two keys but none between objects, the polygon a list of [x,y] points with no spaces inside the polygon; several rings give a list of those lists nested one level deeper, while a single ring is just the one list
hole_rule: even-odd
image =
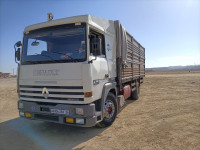
[{"label": "sandy brown dirt ground with the truck's shadow on it", "polygon": [[148,72],[140,99],[104,129],[21,119],[16,79],[0,79],[0,149],[199,150],[200,71]]}]

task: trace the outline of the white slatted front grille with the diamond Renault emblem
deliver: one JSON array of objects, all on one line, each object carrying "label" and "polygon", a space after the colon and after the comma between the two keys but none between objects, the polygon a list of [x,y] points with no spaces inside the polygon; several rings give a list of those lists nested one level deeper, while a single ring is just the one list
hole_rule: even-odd
[{"label": "white slatted front grille with the diamond Renault emblem", "polygon": [[[44,94],[42,91],[44,88]],[[20,99],[32,101],[83,101],[84,92],[82,86],[31,86],[20,85]]]}]

